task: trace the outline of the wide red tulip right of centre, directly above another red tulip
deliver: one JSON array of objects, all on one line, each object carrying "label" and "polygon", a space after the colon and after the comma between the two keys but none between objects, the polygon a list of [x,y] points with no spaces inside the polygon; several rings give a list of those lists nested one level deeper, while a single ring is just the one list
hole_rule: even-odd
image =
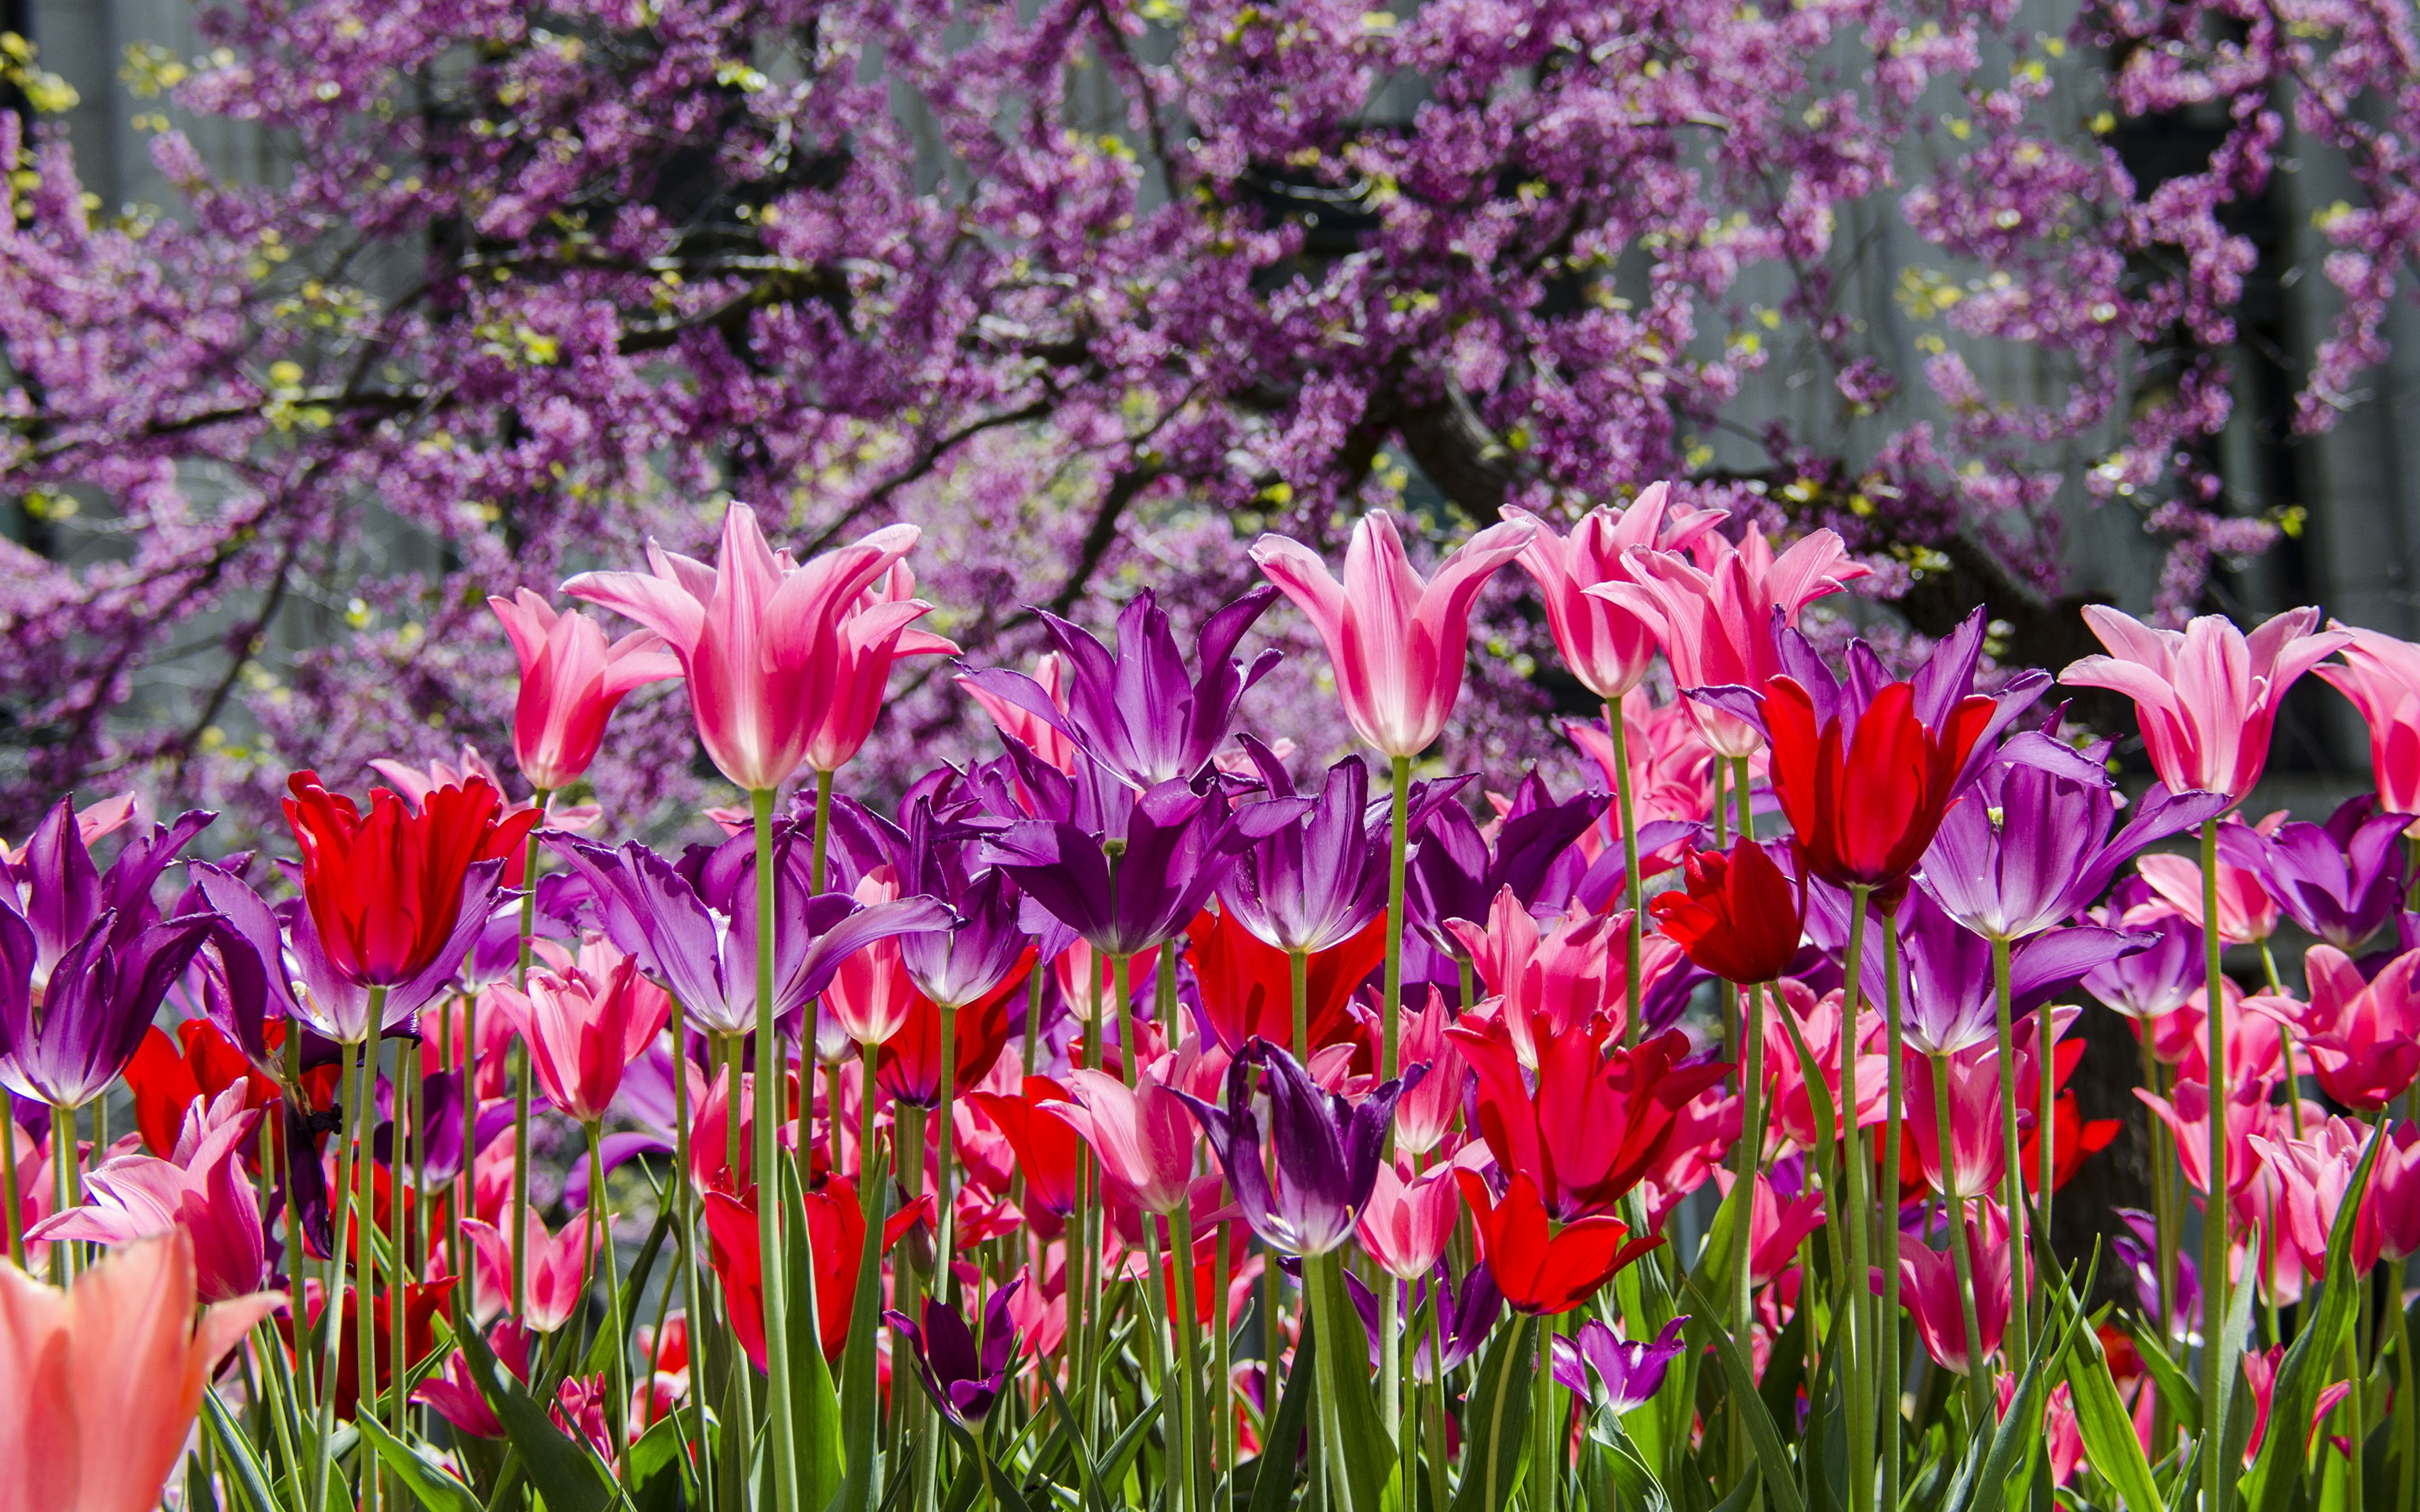
[{"label": "wide red tulip right of centre, directly above another red tulip", "polygon": [[1730,1069],[1679,1064],[1689,1055],[1679,1031],[1604,1052],[1585,1028],[1571,1028],[1539,1040],[1529,1091],[1503,1021],[1464,1016],[1445,1033],[1479,1072],[1479,1137],[1558,1219],[1609,1212],[1670,1152],[1696,1093]]}]

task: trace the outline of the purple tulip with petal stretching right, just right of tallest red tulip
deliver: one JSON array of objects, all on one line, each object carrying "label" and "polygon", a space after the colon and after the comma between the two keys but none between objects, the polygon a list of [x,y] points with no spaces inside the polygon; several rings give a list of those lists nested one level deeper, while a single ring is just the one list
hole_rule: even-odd
[{"label": "purple tulip with petal stretching right, just right of tallest red tulip", "polygon": [[2026,731],[1941,820],[1921,888],[1975,934],[2026,939],[2084,912],[2134,852],[2193,830],[2226,803],[2224,793],[2154,784],[2110,835],[2118,789],[2098,748],[2079,752]]}]

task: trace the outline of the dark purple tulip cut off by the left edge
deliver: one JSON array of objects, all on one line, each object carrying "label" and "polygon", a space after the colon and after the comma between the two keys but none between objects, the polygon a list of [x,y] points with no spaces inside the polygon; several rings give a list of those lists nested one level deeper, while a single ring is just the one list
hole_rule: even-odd
[{"label": "dark purple tulip cut off by the left edge", "polygon": [[[109,1091],[169,987],[218,927],[213,914],[160,919],[150,890],[211,823],[179,815],[128,839],[109,871],[92,864],[75,810],[60,803],[0,881],[0,1086],[53,1108]],[[19,912],[22,902],[22,912]]]}]

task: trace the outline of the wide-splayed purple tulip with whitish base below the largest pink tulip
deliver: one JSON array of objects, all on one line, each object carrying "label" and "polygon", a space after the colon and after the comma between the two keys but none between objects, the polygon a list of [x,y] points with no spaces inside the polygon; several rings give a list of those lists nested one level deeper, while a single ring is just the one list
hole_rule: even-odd
[{"label": "wide-splayed purple tulip with whitish base below the largest pink tulip", "polygon": [[[636,839],[605,849],[549,835],[595,893],[598,919],[612,943],[656,977],[690,1021],[714,1033],[755,1028],[757,893],[755,835],[719,847],[692,844],[670,864]],[[946,929],[951,912],[932,898],[859,905],[847,893],[811,893],[808,839],[791,825],[774,835],[774,989],[772,1009],[784,1035],[799,1033],[806,1004],[840,963],[878,939]]]}]

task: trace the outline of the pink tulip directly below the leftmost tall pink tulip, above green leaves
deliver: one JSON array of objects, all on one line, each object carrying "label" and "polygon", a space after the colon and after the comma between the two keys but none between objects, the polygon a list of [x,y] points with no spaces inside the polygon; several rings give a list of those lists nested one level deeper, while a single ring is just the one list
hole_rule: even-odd
[{"label": "pink tulip directly below the leftmost tall pink tulip, above green leaves", "polygon": [[586,1125],[605,1118],[622,1072],[673,1016],[673,997],[639,975],[639,960],[595,936],[576,965],[532,970],[528,992],[496,985],[489,1002],[528,1043],[547,1101]]}]

